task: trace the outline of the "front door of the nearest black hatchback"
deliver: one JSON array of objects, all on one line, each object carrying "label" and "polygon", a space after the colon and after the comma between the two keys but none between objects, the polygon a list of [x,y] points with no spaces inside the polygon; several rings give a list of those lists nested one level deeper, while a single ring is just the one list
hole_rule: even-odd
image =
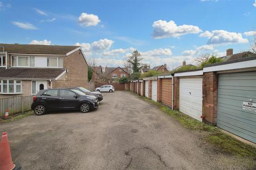
[{"label": "front door of the nearest black hatchback", "polygon": [[77,108],[79,100],[75,92],[67,89],[60,89],[60,107],[63,109]]}]

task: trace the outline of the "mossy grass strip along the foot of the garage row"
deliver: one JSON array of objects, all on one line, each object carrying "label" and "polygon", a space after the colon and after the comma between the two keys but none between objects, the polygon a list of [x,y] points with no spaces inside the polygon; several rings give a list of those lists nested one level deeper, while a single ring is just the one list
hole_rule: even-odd
[{"label": "mossy grass strip along the foot of the garage row", "polygon": [[[132,92],[133,93],[133,92]],[[133,93],[135,94],[135,93]],[[139,96],[139,95],[138,95]],[[239,157],[246,157],[252,160],[252,163],[255,165],[256,160],[256,148],[243,143],[230,135],[227,135],[219,130],[219,128],[205,124],[203,122],[199,122],[194,118],[191,118],[179,111],[172,111],[170,107],[167,107],[161,103],[150,100],[146,97],[142,97],[143,100],[147,101],[150,104],[157,106],[162,112],[175,117],[179,120],[179,122],[185,126],[185,128],[196,130],[196,131],[205,131],[208,132],[205,140],[214,147],[217,147],[225,154],[230,154]],[[252,165],[253,166],[253,165]]]}]

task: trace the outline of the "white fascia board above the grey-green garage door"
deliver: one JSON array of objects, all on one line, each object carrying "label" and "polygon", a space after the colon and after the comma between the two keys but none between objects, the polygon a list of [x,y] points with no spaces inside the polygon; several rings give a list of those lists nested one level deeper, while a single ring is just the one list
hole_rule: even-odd
[{"label": "white fascia board above the grey-green garage door", "polygon": [[223,71],[223,70],[233,70],[233,69],[245,69],[249,67],[255,67],[256,60],[249,60],[244,62],[216,65],[211,67],[204,67],[204,72],[212,72],[212,71]]}]

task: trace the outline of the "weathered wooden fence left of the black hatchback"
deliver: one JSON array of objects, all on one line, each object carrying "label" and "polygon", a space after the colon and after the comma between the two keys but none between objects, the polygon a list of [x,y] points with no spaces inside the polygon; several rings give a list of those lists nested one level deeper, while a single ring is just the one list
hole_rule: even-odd
[{"label": "weathered wooden fence left of the black hatchback", "polygon": [[31,109],[33,96],[14,96],[0,99],[0,116],[2,117],[6,110],[9,115],[26,112]]}]

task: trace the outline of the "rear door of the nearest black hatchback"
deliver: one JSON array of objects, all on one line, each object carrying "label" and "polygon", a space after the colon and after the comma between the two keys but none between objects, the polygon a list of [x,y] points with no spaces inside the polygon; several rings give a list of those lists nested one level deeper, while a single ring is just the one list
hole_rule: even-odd
[{"label": "rear door of the nearest black hatchback", "polygon": [[49,109],[58,109],[60,107],[59,90],[51,89],[46,90],[42,95],[41,99]]}]

